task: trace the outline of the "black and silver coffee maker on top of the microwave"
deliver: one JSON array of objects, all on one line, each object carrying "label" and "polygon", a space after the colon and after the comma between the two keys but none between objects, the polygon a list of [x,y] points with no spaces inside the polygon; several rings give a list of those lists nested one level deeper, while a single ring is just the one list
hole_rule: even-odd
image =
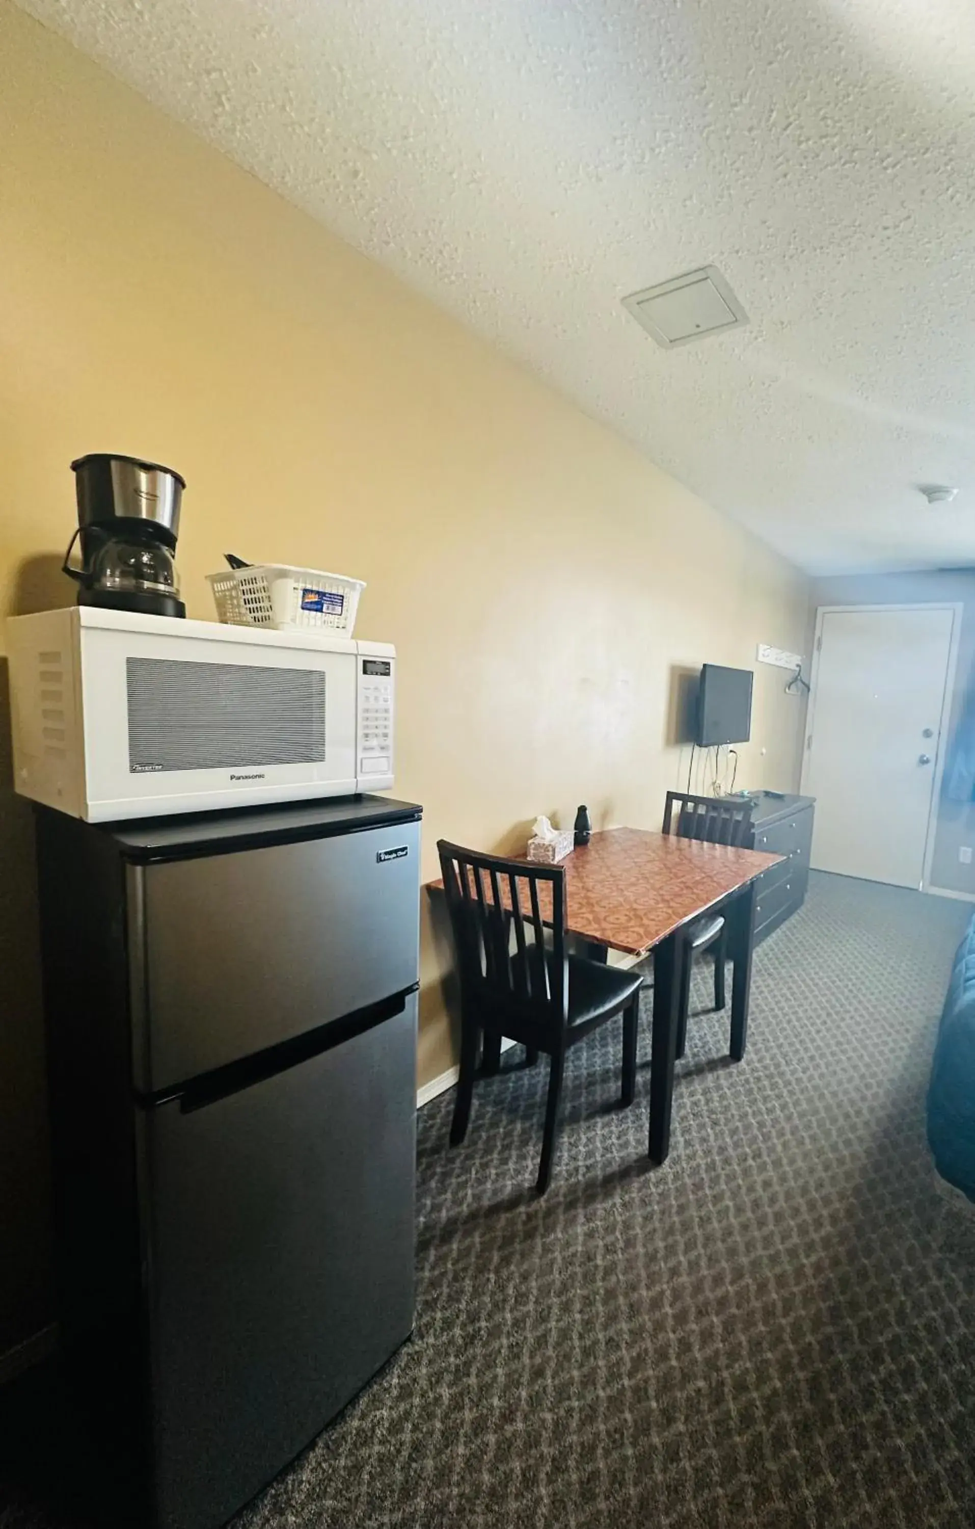
[{"label": "black and silver coffee maker on top of the microwave", "polygon": [[[159,462],[95,451],[72,462],[78,529],[64,572],[78,581],[79,605],[185,616],[176,578],[176,537],[185,480]],[[81,567],[70,566],[81,537]]]}]

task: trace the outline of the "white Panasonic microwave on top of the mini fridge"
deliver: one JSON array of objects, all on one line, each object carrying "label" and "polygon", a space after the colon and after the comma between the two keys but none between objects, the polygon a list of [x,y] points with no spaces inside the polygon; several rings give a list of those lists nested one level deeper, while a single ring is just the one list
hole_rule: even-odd
[{"label": "white Panasonic microwave on top of the mini fridge", "polygon": [[8,621],[14,784],[89,823],[393,784],[396,650],[73,605]]}]

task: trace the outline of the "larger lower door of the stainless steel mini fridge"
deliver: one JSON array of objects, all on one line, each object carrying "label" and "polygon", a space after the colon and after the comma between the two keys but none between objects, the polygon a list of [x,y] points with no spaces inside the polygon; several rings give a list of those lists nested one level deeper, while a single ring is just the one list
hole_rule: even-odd
[{"label": "larger lower door of the stainless steel mini fridge", "polygon": [[156,1521],[211,1529],[413,1327],[416,995],[141,1133]]}]

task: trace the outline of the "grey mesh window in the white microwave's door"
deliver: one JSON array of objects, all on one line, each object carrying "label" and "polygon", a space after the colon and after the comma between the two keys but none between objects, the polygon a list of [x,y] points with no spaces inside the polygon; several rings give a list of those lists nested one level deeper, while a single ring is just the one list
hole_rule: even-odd
[{"label": "grey mesh window in the white microwave's door", "polygon": [[125,661],[128,769],[255,769],[326,760],[322,670]]}]

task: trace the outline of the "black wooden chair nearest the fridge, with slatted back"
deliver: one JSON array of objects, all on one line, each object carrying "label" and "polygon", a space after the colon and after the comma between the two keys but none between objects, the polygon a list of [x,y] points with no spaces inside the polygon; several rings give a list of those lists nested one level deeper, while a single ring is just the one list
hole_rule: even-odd
[{"label": "black wooden chair nearest the fridge, with slatted back", "polygon": [[613,1015],[624,1015],[622,1102],[636,1093],[642,977],[568,956],[561,865],[478,855],[437,844],[460,976],[460,1083],[451,1145],[468,1133],[478,1041],[520,1041],[550,1061],[538,1193],[552,1177],[565,1053]]}]

